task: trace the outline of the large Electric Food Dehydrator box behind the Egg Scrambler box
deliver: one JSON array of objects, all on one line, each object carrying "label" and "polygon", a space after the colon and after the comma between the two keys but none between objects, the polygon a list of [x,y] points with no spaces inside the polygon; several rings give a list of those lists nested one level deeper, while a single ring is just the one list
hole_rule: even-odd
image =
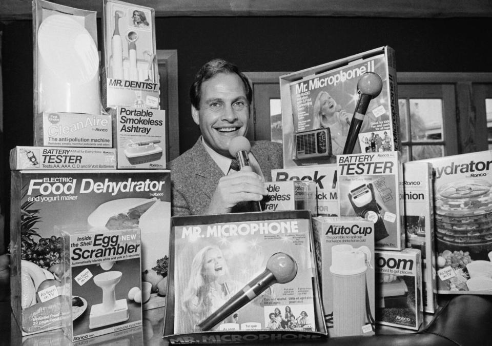
[{"label": "large Electric Food Dehydrator box behind the Egg Scrambler box", "polygon": [[[61,229],[141,230],[143,308],[165,304],[170,227],[166,170],[12,171],[12,311],[24,334],[61,327],[57,299],[36,300],[46,279],[61,277]],[[56,276],[55,276],[56,275]],[[145,283],[144,283],[145,284]]]}]

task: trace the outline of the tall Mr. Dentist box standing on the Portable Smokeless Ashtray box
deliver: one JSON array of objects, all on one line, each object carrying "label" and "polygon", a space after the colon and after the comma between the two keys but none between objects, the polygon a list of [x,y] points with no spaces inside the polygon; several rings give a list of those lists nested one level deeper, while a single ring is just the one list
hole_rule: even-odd
[{"label": "tall Mr. Dentist box standing on the Portable Smokeless Ashtray box", "polygon": [[154,9],[107,0],[103,26],[106,107],[159,109]]}]

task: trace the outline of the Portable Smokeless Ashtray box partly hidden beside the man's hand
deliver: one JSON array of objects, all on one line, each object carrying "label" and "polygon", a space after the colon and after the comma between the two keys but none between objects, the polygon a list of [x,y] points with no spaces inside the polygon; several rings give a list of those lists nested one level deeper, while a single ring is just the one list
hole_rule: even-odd
[{"label": "Portable Smokeless Ashtray box partly hidden beside the man's hand", "polygon": [[261,201],[263,211],[309,210],[316,215],[316,184],[313,181],[267,182],[268,195]]}]

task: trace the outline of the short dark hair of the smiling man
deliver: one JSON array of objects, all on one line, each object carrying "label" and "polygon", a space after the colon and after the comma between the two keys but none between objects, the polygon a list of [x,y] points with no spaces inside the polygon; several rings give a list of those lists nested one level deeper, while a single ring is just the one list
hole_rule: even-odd
[{"label": "short dark hair of the smiling man", "polygon": [[224,59],[216,58],[203,65],[195,75],[195,80],[190,88],[190,100],[193,107],[200,109],[201,84],[219,73],[237,74],[242,80],[244,90],[246,91],[246,98],[248,103],[251,105],[253,91],[251,90],[248,78],[241,71],[239,71],[236,65],[229,63]]}]

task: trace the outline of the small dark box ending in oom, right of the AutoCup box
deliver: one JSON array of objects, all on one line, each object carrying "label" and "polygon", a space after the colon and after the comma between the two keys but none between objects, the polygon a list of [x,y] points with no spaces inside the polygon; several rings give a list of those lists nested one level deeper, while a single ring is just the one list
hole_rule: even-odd
[{"label": "small dark box ending in oom, right of the AutoCup box", "polygon": [[418,330],[423,320],[420,250],[376,250],[376,323]]}]

